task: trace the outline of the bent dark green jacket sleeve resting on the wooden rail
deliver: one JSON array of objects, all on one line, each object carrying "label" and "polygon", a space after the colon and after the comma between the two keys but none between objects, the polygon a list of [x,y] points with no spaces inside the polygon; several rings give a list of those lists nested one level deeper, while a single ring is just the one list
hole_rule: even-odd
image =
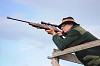
[{"label": "bent dark green jacket sleeve resting on the wooden rail", "polygon": [[71,30],[65,38],[59,37],[57,34],[53,36],[52,40],[60,50],[64,50],[68,45],[79,39],[81,34],[76,30]]}]

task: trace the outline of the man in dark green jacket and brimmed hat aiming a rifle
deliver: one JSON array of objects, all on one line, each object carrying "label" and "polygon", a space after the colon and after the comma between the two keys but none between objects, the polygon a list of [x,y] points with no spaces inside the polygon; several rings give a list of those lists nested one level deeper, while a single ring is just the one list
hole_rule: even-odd
[{"label": "man in dark green jacket and brimmed hat aiming a rifle", "polygon": [[[77,24],[73,17],[63,18],[59,28],[61,31],[57,33],[50,27],[46,32],[53,35],[53,42],[60,50],[98,40],[98,38]],[[85,66],[100,66],[100,46],[81,50],[75,52],[75,54]]]}]

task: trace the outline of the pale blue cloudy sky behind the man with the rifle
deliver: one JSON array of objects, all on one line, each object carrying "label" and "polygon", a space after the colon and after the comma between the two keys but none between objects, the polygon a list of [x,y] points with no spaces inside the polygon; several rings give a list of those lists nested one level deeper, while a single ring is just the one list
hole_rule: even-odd
[{"label": "pale blue cloudy sky behind the man with the rifle", "polygon": [[[0,66],[52,66],[52,36],[27,23],[60,24],[72,16],[87,31],[100,38],[100,0],[0,0]],[[61,66],[83,66],[60,60]]]}]

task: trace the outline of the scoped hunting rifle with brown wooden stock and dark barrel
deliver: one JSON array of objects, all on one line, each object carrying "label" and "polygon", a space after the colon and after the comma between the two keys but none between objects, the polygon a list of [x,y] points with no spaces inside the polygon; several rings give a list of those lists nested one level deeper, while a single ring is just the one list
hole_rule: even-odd
[{"label": "scoped hunting rifle with brown wooden stock and dark barrel", "polygon": [[31,25],[33,27],[36,27],[38,29],[49,30],[48,26],[50,26],[50,27],[52,27],[54,29],[55,32],[59,32],[60,31],[60,30],[58,30],[56,28],[56,27],[58,27],[58,25],[46,23],[46,22],[43,22],[43,21],[41,22],[41,24],[38,24],[38,23],[23,21],[23,20],[20,20],[20,19],[14,19],[14,18],[11,18],[11,17],[7,17],[7,19],[16,20],[16,21],[20,21],[20,22],[24,22],[24,23],[28,23],[29,25]]}]

